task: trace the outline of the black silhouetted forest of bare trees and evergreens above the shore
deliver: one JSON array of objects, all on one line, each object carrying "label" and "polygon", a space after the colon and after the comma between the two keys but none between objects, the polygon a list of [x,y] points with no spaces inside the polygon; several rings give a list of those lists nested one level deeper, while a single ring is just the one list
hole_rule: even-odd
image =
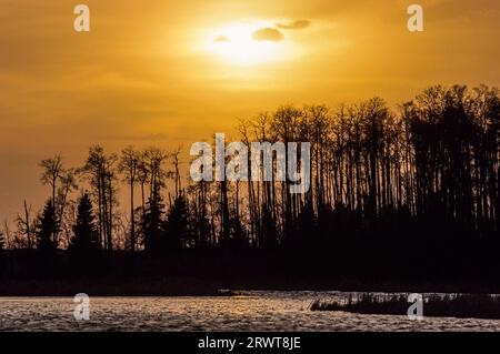
[{"label": "black silhouetted forest of bare trees and evergreens above the shore", "polygon": [[289,193],[290,181],[192,182],[180,149],[116,154],[94,145],[78,168],[58,155],[40,163],[50,188],[43,210],[34,214],[24,202],[17,230],[4,223],[1,276],[500,289],[497,89],[436,85],[397,109],[380,98],[336,109],[283,105],[239,121],[238,131],[247,144],[310,142],[309,192]]}]

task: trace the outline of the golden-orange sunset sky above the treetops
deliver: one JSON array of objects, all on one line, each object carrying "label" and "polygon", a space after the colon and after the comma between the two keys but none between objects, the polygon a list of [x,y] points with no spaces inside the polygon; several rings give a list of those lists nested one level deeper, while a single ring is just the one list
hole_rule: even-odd
[{"label": "golden-orange sunset sky above the treetops", "polygon": [[[411,3],[424,32],[407,29]],[[498,0],[0,0],[0,221],[40,206],[54,153],[189,149],[282,103],[500,85],[499,23]]]}]

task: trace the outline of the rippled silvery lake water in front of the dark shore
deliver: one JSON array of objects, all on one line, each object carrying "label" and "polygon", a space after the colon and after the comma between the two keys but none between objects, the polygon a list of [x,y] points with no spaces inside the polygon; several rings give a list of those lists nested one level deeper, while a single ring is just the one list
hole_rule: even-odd
[{"label": "rippled silvery lake water in front of the dark shore", "polygon": [[312,312],[341,292],[243,292],[231,297],[90,297],[76,321],[72,297],[0,297],[0,331],[500,331],[500,321]]}]

